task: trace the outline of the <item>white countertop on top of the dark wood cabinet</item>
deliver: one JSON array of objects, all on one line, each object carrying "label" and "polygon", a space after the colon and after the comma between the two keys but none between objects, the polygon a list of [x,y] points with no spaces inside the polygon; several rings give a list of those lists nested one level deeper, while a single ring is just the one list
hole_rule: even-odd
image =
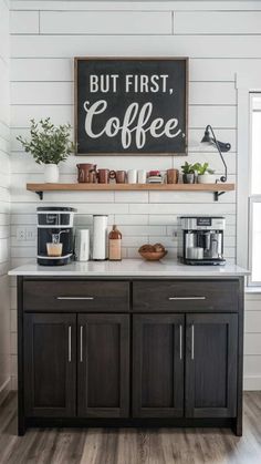
[{"label": "white countertop on top of the dark wood cabinet", "polygon": [[186,266],[173,259],[144,261],[123,259],[122,261],[86,261],[66,266],[39,266],[35,260],[9,271],[9,276],[32,277],[240,277],[249,271],[234,265]]}]

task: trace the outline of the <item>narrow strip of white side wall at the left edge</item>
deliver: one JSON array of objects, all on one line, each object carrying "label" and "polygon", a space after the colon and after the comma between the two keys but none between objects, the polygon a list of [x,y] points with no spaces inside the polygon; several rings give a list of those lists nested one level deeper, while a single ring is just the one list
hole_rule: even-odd
[{"label": "narrow strip of white side wall at the left edge", "polygon": [[0,0],[0,399],[10,388],[9,8]]}]

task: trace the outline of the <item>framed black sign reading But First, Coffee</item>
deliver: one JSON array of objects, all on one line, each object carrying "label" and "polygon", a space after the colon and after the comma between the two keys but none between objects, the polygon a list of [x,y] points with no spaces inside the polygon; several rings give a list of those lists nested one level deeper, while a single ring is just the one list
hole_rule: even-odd
[{"label": "framed black sign reading But First, Coffee", "polygon": [[188,59],[75,58],[76,153],[187,154]]}]

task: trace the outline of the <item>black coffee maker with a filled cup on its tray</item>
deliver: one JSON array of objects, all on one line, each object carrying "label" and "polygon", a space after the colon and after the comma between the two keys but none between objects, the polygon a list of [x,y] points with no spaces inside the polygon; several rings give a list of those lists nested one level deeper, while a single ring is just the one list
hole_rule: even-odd
[{"label": "black coffee maker with a filled cup on its tray", "polygon": [[38,208],[38,264],[63,266],[73,259],[73,217],[76,209]]}]

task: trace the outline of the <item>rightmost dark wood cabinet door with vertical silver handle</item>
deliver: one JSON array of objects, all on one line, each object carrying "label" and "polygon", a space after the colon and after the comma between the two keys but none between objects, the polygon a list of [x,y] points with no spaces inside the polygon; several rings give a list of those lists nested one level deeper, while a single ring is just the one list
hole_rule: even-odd
[{"label": "rightmost dark wood cabinet door with vertical silver handle", "polygon": [[189,315],[186,330],[186,416],[236,416],[238,316]]}]

